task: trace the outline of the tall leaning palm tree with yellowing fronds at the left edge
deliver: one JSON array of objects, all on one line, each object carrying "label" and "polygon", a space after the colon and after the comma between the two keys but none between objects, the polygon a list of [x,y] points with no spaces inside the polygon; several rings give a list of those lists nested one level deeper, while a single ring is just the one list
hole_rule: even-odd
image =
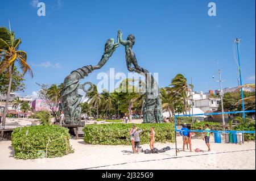
[{"label": "tall leaning palm tree with yellowing fronds at the left edge", "polygon": [[11,92],[11,82],[12,73],[14,69],[14,63],[18,62],[20,69],[22,69],[23,74],[27,71],[30,73],[31,77],[33,77],[32,70],[30,66],[27,64],[27,53],[23,50],[18,50],[19,45],[21,43],[20,39],[16,39],[14,32],[7,30],[5,27],[0,27],[0,54],[1,54],[1,62],[0,62],[0,74],[3,71],[9,71],[9,87],[6,95],[6,103],[5,110],[3,111],[3,121],[2,127],[5,129],[5,121],[6,115],[10,100],[10,92]]}]

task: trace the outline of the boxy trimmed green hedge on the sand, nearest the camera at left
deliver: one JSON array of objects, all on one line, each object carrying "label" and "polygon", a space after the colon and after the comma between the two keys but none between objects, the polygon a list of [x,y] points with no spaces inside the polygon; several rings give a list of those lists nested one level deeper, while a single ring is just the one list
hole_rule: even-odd
[{"label": "boxy trimmed green hedge on the sand, nearest the camera at left", "polygon": [[16,128],[11,134],[11,145],[17,159],[62,157],[73,152],[69,138],[67,128],[57,125],[37,125]]}]

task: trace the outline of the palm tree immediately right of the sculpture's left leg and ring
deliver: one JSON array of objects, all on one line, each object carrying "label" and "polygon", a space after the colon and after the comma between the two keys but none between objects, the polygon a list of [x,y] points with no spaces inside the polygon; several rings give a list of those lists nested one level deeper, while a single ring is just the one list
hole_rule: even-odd
[{"label": "palm tree immediately right of the sculpture's left leg and ring", "polygon": [[97,119],[98,119],[98,110],[103,102],[102,95],[98,92],[97,86],[93,85],[94,89],[91,92],[88,92],[86,96],[88,97],[89,107],[97,110]]}]

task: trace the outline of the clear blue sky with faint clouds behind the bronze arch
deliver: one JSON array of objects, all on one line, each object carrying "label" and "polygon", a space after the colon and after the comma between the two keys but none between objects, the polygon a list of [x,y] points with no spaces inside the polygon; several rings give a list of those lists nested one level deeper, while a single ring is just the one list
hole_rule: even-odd
[{"label": "clear blue sky with faint clouds behind the bronze arch", "polygon": [[[34,3],[33,3],[34,2]],[[38,1],[1,2],[0,26],[11,27],[22,39],[34,78],[26,75],[26,90],[38,83],[61,83],[72,70],[96,65],[109,37],[133,33],[138,64],[159,73],[159,86],[167,86],[177,73],[184,74],[196,91],[218,89],[212,73],[222,70],[224,87],[237,86],[233,39],[241,43],[243,83],[255,82],[255,1],[84,1],[41,0],[46,16],[38,16]],[[215,2],[217,16],[208,16]],[[218,65],[217,65],[218,62]],[[125,50],[119,47],[105,66],[84,81],[97,83],[97,73],[110,68],[127,73]]]}]

